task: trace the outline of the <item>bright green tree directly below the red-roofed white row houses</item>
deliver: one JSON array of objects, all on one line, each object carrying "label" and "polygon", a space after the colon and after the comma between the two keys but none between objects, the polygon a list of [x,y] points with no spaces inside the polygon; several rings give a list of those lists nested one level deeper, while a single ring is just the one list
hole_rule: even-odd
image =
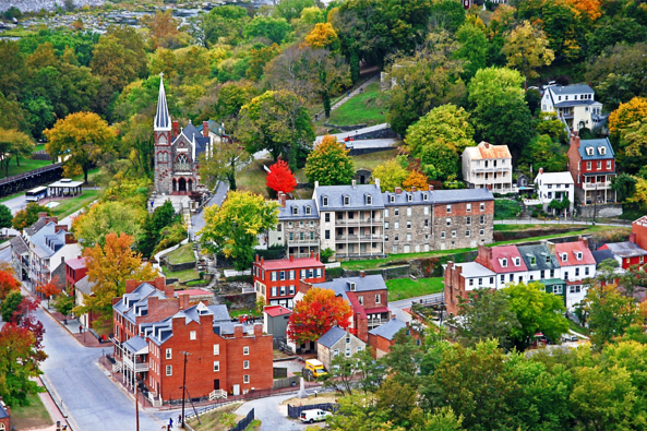
[{"label": "bright green tree directly below the red-roofed white row houses", "polygon": [[518,350],[524,350],[541,332],[552,340],[558,340],[568,332],[568,321],[564,318],[564,298],[547,294],[539,282],[508,285],[504,289],[508,296],[510,310],[516,314],[519,326],[511,328],[510,335]]}]

